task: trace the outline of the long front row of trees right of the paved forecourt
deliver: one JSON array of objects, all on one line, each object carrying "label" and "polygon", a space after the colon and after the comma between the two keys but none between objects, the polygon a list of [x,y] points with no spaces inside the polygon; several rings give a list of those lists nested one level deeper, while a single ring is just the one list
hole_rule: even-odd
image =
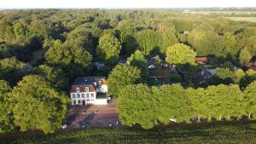
[{"label": "long front row of trees right of the paved forecourt", "polygon": [[122,124],[140,124],[143,129],[157,124],[190,123],[191,118],[222,120],[255,118],[256,82],[241,91],[238,85],[220,84],[206,89],[183,89],[180,84],[149,88],[128,85],[119,93],[117,111]]}]

